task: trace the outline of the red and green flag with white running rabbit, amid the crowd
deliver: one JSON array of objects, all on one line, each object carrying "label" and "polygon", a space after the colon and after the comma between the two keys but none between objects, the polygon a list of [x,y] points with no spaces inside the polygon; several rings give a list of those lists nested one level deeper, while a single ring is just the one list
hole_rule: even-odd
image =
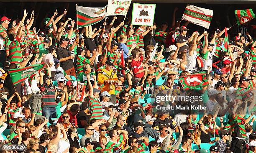
[{"label": "red and green flag with white running rabbit, amid the crowd", "polygon": [[208,80],[206,79],[206,73],[200,72],[195,74],[190,74],[186,76],[180,76],[179,81],[182,84],[184,90],[187,89],[197,89],[207,86]]}]

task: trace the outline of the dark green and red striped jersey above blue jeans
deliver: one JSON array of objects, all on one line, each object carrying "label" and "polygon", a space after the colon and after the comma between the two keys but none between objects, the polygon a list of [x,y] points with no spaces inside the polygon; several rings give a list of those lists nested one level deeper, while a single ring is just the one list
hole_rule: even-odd
[{"label": "dark green and red striped jersey above blue jeans", "polygon": [[[46,85],[43,83],[43,85],[40,84],[40,90],[41,92],[46,89]],[[43,102],[43,107],[56,107],[56,102],[55,102],[55,89],[49,89],[47,94],[42,96],[42,102]]]}]

